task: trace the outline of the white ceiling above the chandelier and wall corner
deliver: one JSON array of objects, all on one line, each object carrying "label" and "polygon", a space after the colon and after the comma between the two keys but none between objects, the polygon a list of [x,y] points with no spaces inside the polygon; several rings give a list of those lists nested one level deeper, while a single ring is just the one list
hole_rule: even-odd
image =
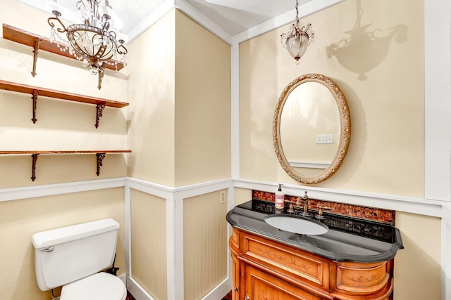
[{"label": "white ceiling above the chandelier and wall corner", "polygon": [[[51,0],[18,1],[51,13]],[[58,0],[58,4],[65,8],[61,12],[63,18],[70,22],[78,22],[76,1]],[[309,1],[311,0],[300,0],[299,6]],[[194,15],[202,15],[233,36],[291,10],[294,20],[296,0],[109,0],[109,3],[118,19],[123,22],[121,31],[131,41],[152,25],[155,21],[152,15],[165,9],[168,11],[168,8],[174,6],[194,12]]]}]

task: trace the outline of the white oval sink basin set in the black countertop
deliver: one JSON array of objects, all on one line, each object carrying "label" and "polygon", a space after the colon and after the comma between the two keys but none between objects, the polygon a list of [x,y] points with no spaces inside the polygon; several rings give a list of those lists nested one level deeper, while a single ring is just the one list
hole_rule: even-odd
[{"label": "white oval sink basin set in the black countertop", "polygon": [[271,214],[265,217],[265,222],[280,230],[301,235],[322,235],[329,230],[318,221],[288,214]]}]

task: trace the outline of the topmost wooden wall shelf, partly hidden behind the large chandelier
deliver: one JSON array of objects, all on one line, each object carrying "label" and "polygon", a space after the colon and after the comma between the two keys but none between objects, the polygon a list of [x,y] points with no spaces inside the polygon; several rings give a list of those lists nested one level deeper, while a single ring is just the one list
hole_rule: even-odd
[{"label": "topmost wooden wall shelf, partly hidden behind the large chandelier", "polygon": [[[23,44],[26,46],[30,46],[33,48],[33,70],[32,75],[35,77],[36,75],[36,62],[37,62],[37,53],[40,50],[44,50],[50,53],[57,54],[59,56],[66,56],[66,58],[77,59],[75,56],[71,55],[68,51],[61,51],[60,48],[68,47],[66,44],[61,43],[51,43],[47,37],[42,37],[38,34],[33,34],[31,32],[27,32],[25,30],[20,30],[16,27],[3,24],[3,38],[8,39],[10,41],[15,41],[16,43]],[[59,47],[58,47],[59,46]],[[124,67],[123,63],[117,62],[116,60],[109,60],[109,63],[104,64],[106,69],[110,70],[121,70]]]}]

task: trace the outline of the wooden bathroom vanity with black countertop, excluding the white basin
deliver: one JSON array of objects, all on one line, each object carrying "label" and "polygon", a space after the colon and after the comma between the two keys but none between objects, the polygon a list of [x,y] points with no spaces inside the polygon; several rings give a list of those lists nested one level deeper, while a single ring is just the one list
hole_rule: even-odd
[{"label": "wooden bathroom vanity with black countertop, excluding the white basin", "polygon": [[301,235],[268,225],[273,212],[252,200],[227,214],[234,300],[392,299],[397,228],[325,214],[327,233]]}]

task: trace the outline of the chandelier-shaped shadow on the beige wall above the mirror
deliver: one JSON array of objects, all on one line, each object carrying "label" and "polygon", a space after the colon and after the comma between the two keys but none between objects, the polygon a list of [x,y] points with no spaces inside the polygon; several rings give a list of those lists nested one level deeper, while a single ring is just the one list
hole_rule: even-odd
[{"label": "chandelier-shaped shadow on the beige wall above the mirror", "polygon": [[380,65],[388,53],[390,41],[394,38],[400,44],[407,41],[407,27],[403,24],[390,27],[385,30],[385,35],[378,37],[383,30],[368,31],[370,24],[361,25],[362,8],[361,0],[356,1],[357,20],[354,28],[345,32],[350,37],[341,39],[338,43],[330,44],[327,49],[328,58],[335,56],[338,63],[353,73],[359,74],[359,80],[366,80],[366,72]]}]

